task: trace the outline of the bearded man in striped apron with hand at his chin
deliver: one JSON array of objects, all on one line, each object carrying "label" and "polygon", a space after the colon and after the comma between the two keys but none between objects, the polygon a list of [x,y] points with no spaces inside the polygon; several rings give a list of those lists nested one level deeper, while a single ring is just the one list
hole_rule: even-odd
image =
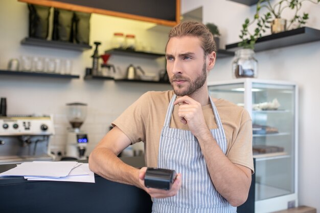
[{"label": "bearded man in striped apron with hand at his chin", "polygon": [[[125,110],[90,154],[89,167],[145,190],[153,198],[153,212],[236,212],[247,199],[254,170],[250,116],[209,96],[206,80],[216,60],[215,42],[202,23],[174,27],[166,59],[173,91],[146,92]],[[117,158],[138,141],[144,141],[148,167],[178,172],[169,191],[145,187],[146,168]]]}]

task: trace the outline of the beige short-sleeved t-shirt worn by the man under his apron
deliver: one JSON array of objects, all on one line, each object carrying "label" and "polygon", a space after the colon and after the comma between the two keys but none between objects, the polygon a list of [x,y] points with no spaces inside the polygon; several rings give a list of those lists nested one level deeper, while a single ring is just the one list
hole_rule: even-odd
[{"label": "beige short-sleeved t-shirt worn by the man under his apron", "polygon": [[[159,140],[173,91],[149,91],[129,106],[112,125],[118,126],[131,143],[144,142],[145,161],[148,167],[157,167]],[[213,98],[213,97],[212,97]],[[254,171],[252,154],[252,120],[248,112],[223,99],[214,101],[227,140],[226,156],[233,163]],[[217,124],[211,104],[202,106],[205,122],[209,129]],[[189,130],[188,124],[180,122],[178,105],[175,105],[170,128]]]}]

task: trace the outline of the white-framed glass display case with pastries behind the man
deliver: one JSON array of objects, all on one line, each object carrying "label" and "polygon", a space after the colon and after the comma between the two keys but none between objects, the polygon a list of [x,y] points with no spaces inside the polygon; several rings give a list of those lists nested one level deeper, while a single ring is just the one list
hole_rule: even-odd
[{"label": "white-framed glass display case with pastries behind the man", "polygon": [[212,98],[244,107],[253,121],[255,212],[298,204],[298,87],[285,81],[208,82]]}]

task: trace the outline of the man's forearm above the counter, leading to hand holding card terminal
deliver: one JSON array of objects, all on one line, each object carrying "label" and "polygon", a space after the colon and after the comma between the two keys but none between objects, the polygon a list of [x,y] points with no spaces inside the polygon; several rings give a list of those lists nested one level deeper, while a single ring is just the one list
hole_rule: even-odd
[{"label": "man's forearm above the counter, leading to hand holding card terminal", "polygon": [[124,163],[107,148],[97,148],[90,154],[89,168],[108,180],[141,187],[139,170]]}]

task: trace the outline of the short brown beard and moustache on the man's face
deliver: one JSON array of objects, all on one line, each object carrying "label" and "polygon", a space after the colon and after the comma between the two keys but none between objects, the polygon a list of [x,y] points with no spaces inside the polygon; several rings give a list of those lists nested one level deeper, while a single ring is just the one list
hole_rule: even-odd
[{"label": "short brown beard and moustache on the man's face", "polygon": [[[171,77],[170,79],[170,83],[171,86],[173,88],[174,93],[177,96],[189,96],[190,94],[196,92],[197,90],[199,90],[203,84],[205,83],[205,81],[207,80],[207,65],[205,64],[205,62],[203,63],[202,66],[202,74],[199,75],[193,82],[191,82],[191,80],[189,78],[185,78],[182,77],[181,74],[175,74]],[[179,88],[182,88],[182,85],[177,85],[178,89],[174,89],[173,87],[173,81],[174,80],[183,80],[183,81],[188,81],[190,82],[190,86],[188,88],[186,88],[185,90],[179,90]]]}]

